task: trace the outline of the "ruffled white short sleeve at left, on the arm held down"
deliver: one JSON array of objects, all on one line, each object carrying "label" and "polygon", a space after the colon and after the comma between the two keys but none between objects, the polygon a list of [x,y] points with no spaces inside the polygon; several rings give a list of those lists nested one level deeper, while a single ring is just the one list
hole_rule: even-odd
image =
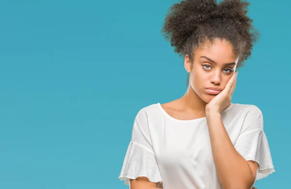
[{"label": "ruffled white short sleeve at left, on the arm held down", "polygon": [[162,184],[162,178],[156,156],[152,147],[148,119],[146,112],[142,109],[135,117],[131,141],[124,158],[120,180],[124,180],[126,185],[130,184],[130,179],[145,176],[149,181]]}]

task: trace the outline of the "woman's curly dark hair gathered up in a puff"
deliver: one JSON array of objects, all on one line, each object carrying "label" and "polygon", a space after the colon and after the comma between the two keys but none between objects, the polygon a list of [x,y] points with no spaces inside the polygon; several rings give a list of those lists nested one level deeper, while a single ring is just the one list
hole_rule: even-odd
[{"label": "woman's curly dark hair gathered up in a puff", "polygon": [[246,16],[249,2],[245,0],[181,0],[173,4],[164,20],[162,33],[180,56],[194,60],[194,49],[204,42],[225,39],[240,61],[251,55],[260,34]]}]

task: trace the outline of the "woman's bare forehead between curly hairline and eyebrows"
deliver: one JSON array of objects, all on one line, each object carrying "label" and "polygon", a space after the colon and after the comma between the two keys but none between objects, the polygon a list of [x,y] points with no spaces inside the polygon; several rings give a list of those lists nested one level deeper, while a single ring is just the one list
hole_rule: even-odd
[{"label": "woman's bare forehead between curly hairline and eyebrows", "polygon": [[217,63],[234,62],[236,56],[232,45],[226,40],[217,39],[213,43],[204,43],[195,50],[194,57],[200,59],[201,56],[209,57]]}]

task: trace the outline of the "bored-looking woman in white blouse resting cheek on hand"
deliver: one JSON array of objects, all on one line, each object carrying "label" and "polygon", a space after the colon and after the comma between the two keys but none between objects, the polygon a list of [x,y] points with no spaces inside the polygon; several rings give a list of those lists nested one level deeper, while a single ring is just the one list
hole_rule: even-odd
[{"label": "bored-looking woman in white blouse resting cheek on hand", "polygon": [[[275,172],[258,107],[231,103],[258,32],[241,0],[183,0],[163,30],[189,87],[140,110],[119,179],[131,189],[251,189]],[[237,60],[239,60],[237,62]]]}]

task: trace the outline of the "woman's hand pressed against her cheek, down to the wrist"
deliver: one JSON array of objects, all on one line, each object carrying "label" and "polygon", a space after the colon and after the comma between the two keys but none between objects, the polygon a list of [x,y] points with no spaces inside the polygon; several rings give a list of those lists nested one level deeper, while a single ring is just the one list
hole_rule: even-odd
[{"label": "woman's hand pressed against her cheek, down to the wrist", "polygon": [[226,88],[217,94],[207,105],[206,113],[208,112],[218,112],[221,113],[226,107],[230,105],[231,96],[234,92],[238,72],[236,72],[226,84]]}]

